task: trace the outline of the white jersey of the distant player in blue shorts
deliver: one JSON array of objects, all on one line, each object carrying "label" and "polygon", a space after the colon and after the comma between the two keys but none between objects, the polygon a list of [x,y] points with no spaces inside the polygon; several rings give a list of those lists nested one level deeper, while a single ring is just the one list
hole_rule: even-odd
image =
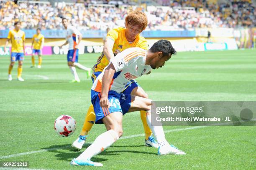
[{"label": "white jersey of the distant player in blue shorts", "polygon": [[67,30],[65,30],[66,40],[69,43],[69,50],[74,50],[74,47],[77,45],[78,36],[81,35],[80,31],[77,28],[69,25]]}]

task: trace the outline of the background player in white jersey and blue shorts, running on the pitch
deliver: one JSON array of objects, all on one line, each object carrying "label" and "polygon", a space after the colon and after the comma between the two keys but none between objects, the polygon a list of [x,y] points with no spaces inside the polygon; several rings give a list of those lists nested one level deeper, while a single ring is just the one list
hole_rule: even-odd
[{"label": "background player in white jersey and blue shorts, running on the pitch", "polygon": [[72,25],[68,24],[67,18],[62,18],[62,25],[65,28],[66,42],[60,47],[69,44],[69,51],[67,54],[67,62],[70,68],[72,75],[74,76],[74,80],[71,82],[80,82],[80,79],[77,75],[77,70],[75,67],[85,70],[87,73],[87,78],[91,76],[92,69],[87,68],[78,63],[78,47],[79,43],[82,40],[82,34]]}]

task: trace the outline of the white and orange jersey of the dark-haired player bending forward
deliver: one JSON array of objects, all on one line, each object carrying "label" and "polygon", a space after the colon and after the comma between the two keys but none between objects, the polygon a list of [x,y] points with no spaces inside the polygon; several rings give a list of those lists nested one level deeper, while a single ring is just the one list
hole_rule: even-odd
[{"label": "white and orange jersey of the dark-haired player bending forward", "polygon": [[[118,93],[124,90],[125,85],[137,77],[148,73],[151,70],[150,65],[146,65],[146,50],[139,47],[132,47],[118,53],[110,59],[115,67],[115,74],[110,83],[109,90],[114,90]],[[101,92],[103,72],[97,77],[92,85],[92,90]]]}]

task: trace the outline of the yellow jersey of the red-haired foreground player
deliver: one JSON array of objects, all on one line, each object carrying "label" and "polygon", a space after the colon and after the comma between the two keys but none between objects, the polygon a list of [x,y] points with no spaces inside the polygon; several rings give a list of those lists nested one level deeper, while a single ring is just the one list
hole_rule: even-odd
[{"label": "yellow jersey of the red-haired foreground player", "polygon": [[[110,38],[114,41],[112,49],[114,55],[117,55],[123,50],[131,47],[140,47],[144,50],[148,50],[148,43],[144,37],[138,35],[133,42],[128,42],[125,37],[125,30],[125,28],[119,27],[108,32],[107,38]],[[93,67],[94,72],[102,72],[102,70],[108,65],[108,63],[109,61],[107,57],[102,52],[100,57],[98,57],[97,59],[97,63]]]}]

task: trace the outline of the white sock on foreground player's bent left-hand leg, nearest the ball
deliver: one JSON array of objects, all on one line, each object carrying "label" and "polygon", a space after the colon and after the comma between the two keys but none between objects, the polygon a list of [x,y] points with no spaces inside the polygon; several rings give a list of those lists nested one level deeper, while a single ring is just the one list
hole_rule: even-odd
[{"label": "white sock on foreground player's bent left-hand leg, nearest the ball", "polygon": [[93,156],[101,153],[119,139],[118,133],[108,130],[99,135],[84,152],[77,157],[78,160],[90,160]]}]

